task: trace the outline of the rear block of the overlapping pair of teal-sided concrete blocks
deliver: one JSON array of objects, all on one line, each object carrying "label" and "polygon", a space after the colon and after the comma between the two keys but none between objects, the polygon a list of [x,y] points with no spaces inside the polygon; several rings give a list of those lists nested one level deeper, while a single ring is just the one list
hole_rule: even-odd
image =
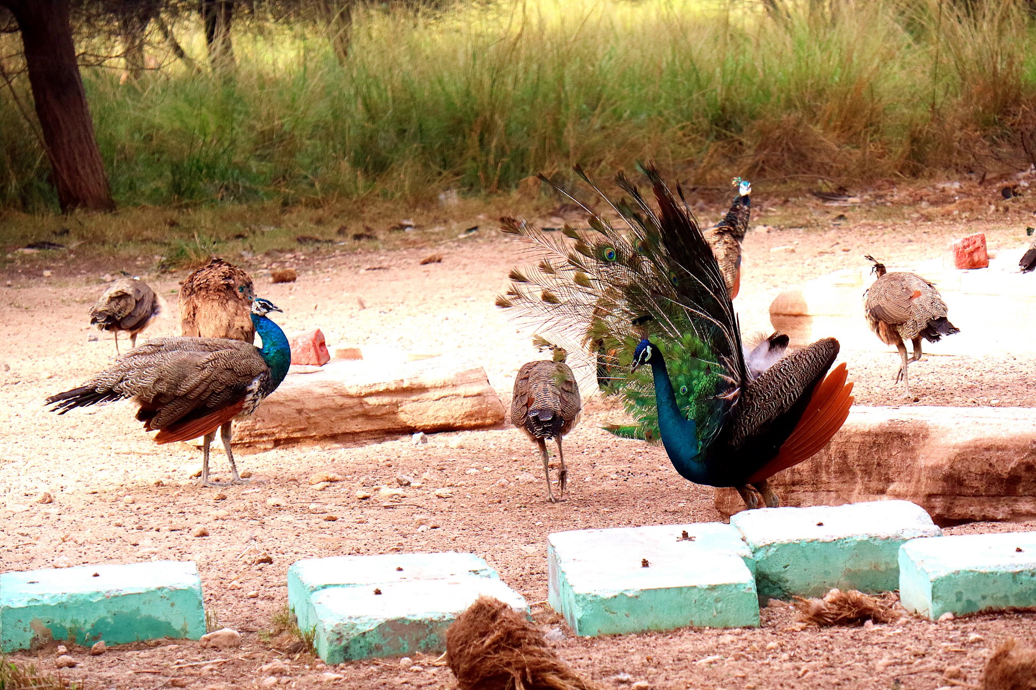
[{"label": "rear block of the overlapping pair of teal-sided concrete blocks", "polygon": [[473,575],[498,579],[496,571],[474,553],[384,553],[305,559],[288,568],[288,606],[295,611],[298,628],[316,625],[311,597],[328,587],[355,587],[444,579]]}]

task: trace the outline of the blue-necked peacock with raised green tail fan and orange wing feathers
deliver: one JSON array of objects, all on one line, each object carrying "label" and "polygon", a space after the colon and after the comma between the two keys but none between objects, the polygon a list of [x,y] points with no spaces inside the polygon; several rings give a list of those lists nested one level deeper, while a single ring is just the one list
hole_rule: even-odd
[{"label": "blue-necked peacock with raised green tail fan and orange wing feathers", "polygon": [[[579,169],[576,172],[586,181]],[[632,200],[612,202],[625,227],[592,215],[571,243],[503,219],[530,243],[535,267],[511,272],[497,305],[542,324],[554,339],[603,340],[629,373],[615,382],[636,436],[661,439],[677,472],[736,487],[748,508],[779,505],[767,479],[823,448],[853,402],[845,365],[828,373],[838,341],[824,338],[753,378],[729,291],[697,221],[654,168],[642,169],[658,210],[625,177]],[[648,365],[648,366],[644,366]]]}]

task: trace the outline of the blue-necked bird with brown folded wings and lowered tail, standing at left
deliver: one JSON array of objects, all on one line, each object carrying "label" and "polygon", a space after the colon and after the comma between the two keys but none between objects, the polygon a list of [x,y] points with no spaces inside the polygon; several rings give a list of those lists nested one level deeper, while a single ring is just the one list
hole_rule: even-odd
[{"label": "blue-necked bird with brown folded wings and lowered tail, standing at left", "polygon": [[244,483],[230,450],[231,420],[251,415],[284,381],[291,349],[284,331],[266,316],[280,311],[256,298],[251,320],[262,349],[227,338],[172,337],[148,340],[115,360],[87,384],[52,395],[52,412],[133,398],[137,419],[147,431],[157,430],[160,444],[204,437],[201,483],[208,479],[209,445],[221,429],[223,448],[233,474],[231,484]]}]

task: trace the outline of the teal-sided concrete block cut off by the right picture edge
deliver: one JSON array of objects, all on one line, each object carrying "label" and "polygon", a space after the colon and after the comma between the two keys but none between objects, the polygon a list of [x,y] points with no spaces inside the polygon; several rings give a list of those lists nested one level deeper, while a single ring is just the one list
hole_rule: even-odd
[{"label": "teal-sided concrete block cut off by the right picture edge", "polygon": [[909,541],[899,548],[899,600],[931,620],[1036,606],[1036,532]]}]

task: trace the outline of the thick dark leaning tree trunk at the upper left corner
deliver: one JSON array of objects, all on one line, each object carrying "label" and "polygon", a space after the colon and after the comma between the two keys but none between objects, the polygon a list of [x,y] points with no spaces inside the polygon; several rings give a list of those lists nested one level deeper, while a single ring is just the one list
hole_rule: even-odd
[{"label": "thick dark leaning tree trunk at the upper left corner", "polygon": [[68,0],[0,0],[22,32],[36,117],[62,211],[115,208],[76,62]]}]

